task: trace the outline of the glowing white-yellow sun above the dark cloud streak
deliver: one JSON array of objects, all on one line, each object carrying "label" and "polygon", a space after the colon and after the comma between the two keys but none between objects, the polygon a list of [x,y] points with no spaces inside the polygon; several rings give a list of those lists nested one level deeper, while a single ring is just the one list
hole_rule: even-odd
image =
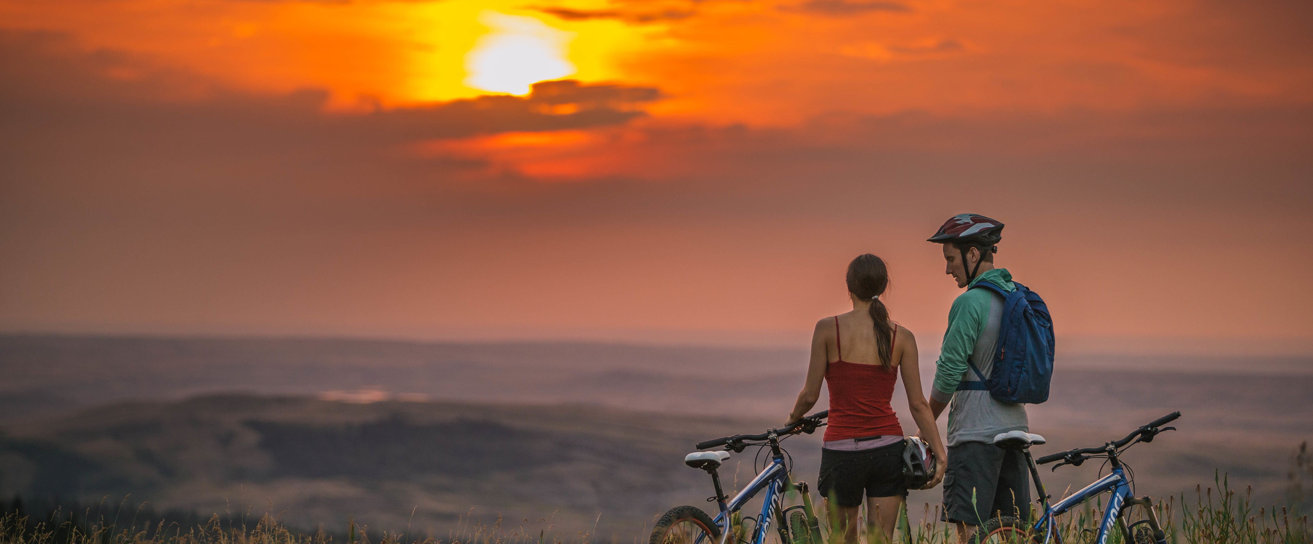
[{"label": "glowing white-yellow sun above the dark cloud streak", "polygon": [[492,32],[465,55],[465,84],[482,91],[528,95],[530,85],[575,74],[567,50],[575,34],[533,17],[479,13]]}]

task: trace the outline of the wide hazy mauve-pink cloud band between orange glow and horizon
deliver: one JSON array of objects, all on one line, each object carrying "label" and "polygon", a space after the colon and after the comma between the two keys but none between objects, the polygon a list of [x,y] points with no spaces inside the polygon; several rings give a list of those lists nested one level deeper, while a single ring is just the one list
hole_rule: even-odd
[{"label": "wide hazy mauve-pink cloud band between orange glow and horizon", "polygon": [[1308,106],[635,122],[660,99],[545,81],[332,113],[3,35],[0,327],[806,331],[876,251],[932,331],[951,288],[923,240],[970,209],[1008,222],[1001,259],[1066,334],[1309,330]]}]

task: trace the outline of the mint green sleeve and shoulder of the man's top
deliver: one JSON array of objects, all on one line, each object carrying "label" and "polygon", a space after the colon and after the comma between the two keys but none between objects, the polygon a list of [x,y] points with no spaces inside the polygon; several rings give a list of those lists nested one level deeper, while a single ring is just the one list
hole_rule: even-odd
[{"label": "mint green sleeve and shoulder of the man's top", "polygon": [[[970,285],[983,280],[994,283],[1006,292],[1016,289],[1007,268],[983,272],[972,280]],[[970,360],[972,352],[976,350],[976,340],[979,339],[989,322],[993,294],[985,289],[972,289],[970,285],[965,293],[953,300],[953,307],[948,310],[948,330],[944,331],[944,344],[940,347],[939,360],[935,361],[935,382],[930,394],[931,398],[944,403],[953,398],[957,384],[962,381],[965,373],[970,372],[966,361]]]}]

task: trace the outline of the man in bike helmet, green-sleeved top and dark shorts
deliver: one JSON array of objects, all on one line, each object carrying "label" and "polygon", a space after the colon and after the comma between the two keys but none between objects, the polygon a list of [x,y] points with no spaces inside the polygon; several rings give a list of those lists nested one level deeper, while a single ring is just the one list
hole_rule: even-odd
[{"label": "man in bike helmet, green-sleeved top and dark shorts", "polygon": [[[948,411],[948,470],[944,474],[943,520],[957,526],[961,543],[997,515],[1029,518],[1029,472],[1015,451],[994,445],[994,435],[1029,431],[1025,406],[1002,402],[981,384],[994,369],[994,352],[1003,317],[1003,298],[990,289],[970,289],[990,281],[1012,292],[1012,275],[994,267],[1003,223],[965,213],[949,218],[928,242],[944,247],[945,273],[958,288],[948,311],[948,330],[935,367],[930,407],[935,419]],[[974,364],[979,374],[970,368]]]}]

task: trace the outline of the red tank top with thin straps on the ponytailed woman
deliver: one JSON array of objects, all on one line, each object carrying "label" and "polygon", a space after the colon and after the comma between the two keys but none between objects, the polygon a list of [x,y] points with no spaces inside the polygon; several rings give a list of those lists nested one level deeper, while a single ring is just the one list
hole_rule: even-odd
[{"label": "red tank top with thin straps on the ponytailed woman", "polygon": [[[898,338],[898,327],[894,336]],[[893,344],[893,338],[889,340]],[[839,360],[826,365],[825,382],[830,390],[830,424],[825,440],[844,440],[878,435],[902,436],[902,424],[889,399],[898,382],[897,368],[848,363],[843,360],[839,342],[839,317],[834,318],[834,343]],[[890,346],[892,347],[892,346]]]}]

